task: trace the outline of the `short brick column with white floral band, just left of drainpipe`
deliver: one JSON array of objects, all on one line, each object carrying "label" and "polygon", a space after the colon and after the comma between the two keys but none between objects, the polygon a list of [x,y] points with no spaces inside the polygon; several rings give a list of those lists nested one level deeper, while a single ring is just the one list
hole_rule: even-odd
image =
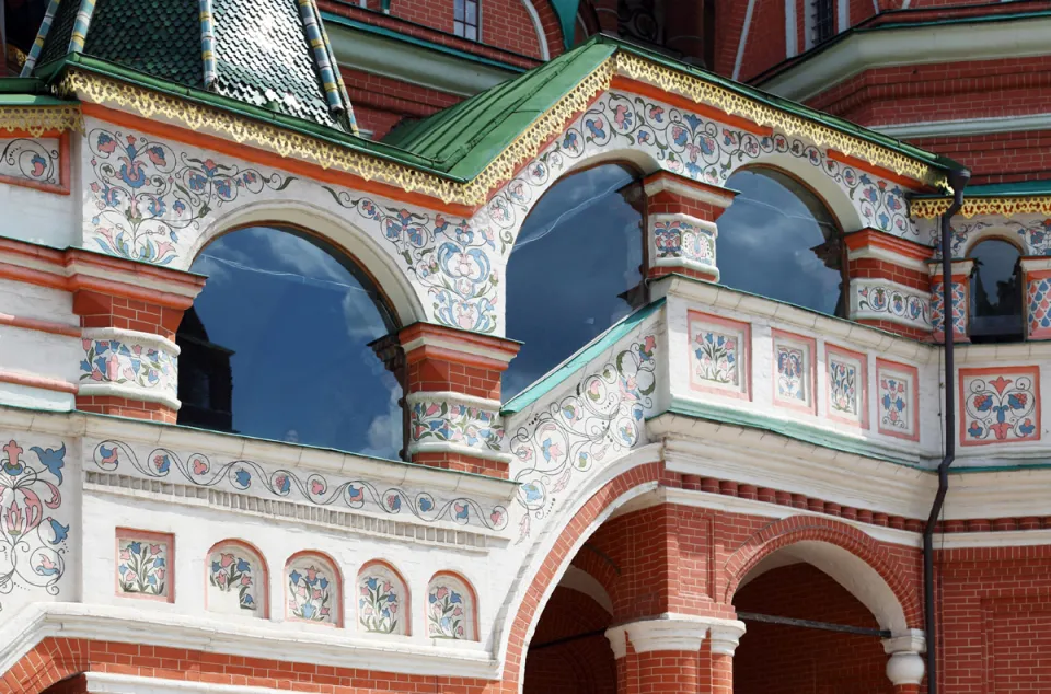
[{"label": "short brick column with white floral band, just left of drainpipe", "polygon": [[915,339],[931,339],[932,250],[875,229],[846,235],[851,317]]}]

